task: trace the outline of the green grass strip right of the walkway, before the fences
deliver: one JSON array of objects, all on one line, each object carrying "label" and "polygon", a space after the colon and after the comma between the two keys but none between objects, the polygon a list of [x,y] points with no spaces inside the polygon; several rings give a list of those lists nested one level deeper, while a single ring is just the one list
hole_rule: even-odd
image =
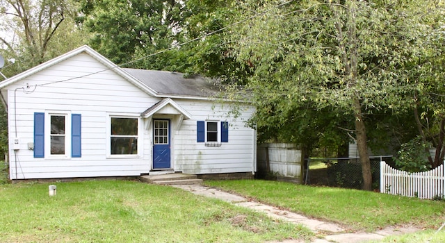
[{"label": "green grass strip right of the walkway, before the fences", "polygon": [[445,222],[444,201],[277,181],[206,181],[206,184],[308,217],[333,221],[350,231],[371,232],[405,224],[437,229]]}]

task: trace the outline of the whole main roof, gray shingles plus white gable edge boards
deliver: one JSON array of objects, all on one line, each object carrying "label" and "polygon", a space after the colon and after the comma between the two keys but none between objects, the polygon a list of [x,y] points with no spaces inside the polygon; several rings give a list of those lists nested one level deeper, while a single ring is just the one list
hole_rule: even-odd
[{"label": "whole main roof, gray shingles plus white gable edge boards", "polygon": [[[0,82],[0,89],[7,87],[17,81],[40,72],[48,67],[58,64],[63,60],[72,58],[80,53],[87,53],[106,66],[113,70],[116,74],[122,76],[127,81],[139,87],[141,90],[147,92],[153,97],[160,98],[182,98],[182,99],[209,99],[219,92],[219,88],[214,85],[216,82],[209,81],[202,76],[194,76],[193,78],[184,78],[184,74],[177,72],[153,71],[145,69],[131,69],[121,68],[115,65],[111,60],[108,60],[91,47],[83,46],[72,51],[69,51],[61,56],[44,62],[38,66],[26,70],[16,76]],[[92,73],[95,74],[95,73]]]}]

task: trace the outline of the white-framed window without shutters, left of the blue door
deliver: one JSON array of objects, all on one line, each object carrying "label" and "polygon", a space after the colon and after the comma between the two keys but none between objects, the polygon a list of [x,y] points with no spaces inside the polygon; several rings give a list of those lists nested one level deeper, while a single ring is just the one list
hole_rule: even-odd
[{"label": "white-framed window without shutters, left of the blue door", "polygon": [[108,115],[107,156],[138,157],[142,150],[141,127],[139,116]]}]

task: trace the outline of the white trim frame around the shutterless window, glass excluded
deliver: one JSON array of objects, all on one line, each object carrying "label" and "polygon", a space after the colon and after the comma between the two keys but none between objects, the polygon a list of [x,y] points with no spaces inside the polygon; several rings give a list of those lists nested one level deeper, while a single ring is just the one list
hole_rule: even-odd
[{"label": "white trim frame around the shutterless window, glass excluded", "polygon": [[[111,154],[111,118],[138,119],[138,151],[136,154]],[[143,120],[139,114],[108,113],[106,115],[106,158],[140,158],[143,153]]]}]

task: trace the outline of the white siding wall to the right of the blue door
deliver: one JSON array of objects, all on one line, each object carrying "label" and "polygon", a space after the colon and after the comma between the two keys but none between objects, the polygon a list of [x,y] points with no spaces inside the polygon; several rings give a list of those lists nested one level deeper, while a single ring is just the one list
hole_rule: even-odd
[{"label": "white siding wall to the right of the blue door", "polygon": [[[245,126],[253,108],[245,108],[237,119],[227,117],[230,107],[220,108],[211,101],[176,101],[193,115],[184,120],[174,140],[175,169],[189,174],[252,172],[256,170],[256,133]],[[213,110],[209,112],[211,107]],[[196,141],[197,121],[229,121],[229,142],[222,146],[205,146]],[[220,134],[218,134],[220,137]]]}]

